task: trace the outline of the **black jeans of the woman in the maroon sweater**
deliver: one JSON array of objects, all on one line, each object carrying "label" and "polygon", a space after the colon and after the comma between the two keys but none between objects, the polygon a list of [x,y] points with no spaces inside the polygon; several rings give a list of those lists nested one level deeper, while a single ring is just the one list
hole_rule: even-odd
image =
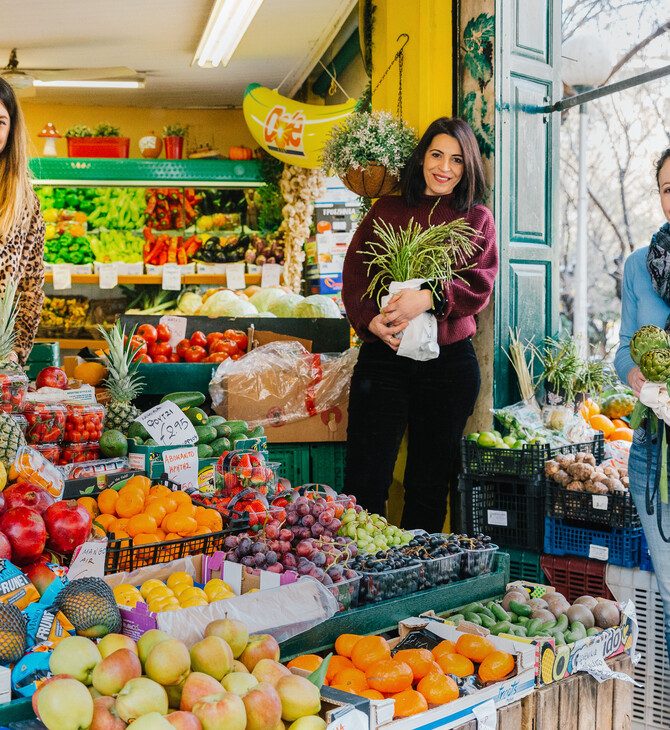
[{"label": "black jeans of the woman in the maroon sweater", "polygon": [[408,428],[401,525],[440,532],[479,385],[469,337],[444,345],[426,362],[399,357],[382,342],[363,343],[351,378],[344,491],[383,515]]}]

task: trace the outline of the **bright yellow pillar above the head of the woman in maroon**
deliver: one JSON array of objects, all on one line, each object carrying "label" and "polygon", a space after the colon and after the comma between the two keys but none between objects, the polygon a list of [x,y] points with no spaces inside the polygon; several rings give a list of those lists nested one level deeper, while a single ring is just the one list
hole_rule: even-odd
[{"label": "bright yellow pillar above the head of the woman in maroon", "polygon": [[[452,9],[448,0],[384,0],[375,3],[372,44],[372,88],[391,63],[401,42],[403,119],[422,134],[437,117],[453,109]],[[395,114],[398,104],[398,63],[372,97],[374,109]]]}]

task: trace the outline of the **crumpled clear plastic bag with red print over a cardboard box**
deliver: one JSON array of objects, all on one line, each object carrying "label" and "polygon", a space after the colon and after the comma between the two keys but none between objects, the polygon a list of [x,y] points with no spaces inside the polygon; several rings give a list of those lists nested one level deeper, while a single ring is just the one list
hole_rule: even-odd
[{"label": "crumpled clear plastic bag with red print over a cardboard box", "polygon": [[293,340],[257,347],[225,360],[209,384],[212,406],[250,427],[309,418],[346,401],[358,350],[313,354]]}]

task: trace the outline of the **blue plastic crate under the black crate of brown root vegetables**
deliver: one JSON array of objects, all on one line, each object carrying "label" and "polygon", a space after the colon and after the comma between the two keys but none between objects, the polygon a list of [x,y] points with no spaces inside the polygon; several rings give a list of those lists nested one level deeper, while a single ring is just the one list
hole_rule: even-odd
[{"label": "blue plastic crate under the black crate of brown root vegetables", "polygon": [[614,528],[609,532],[566,525],[546,517],[544,552],[604,560],[612,565],[634,568],[640,563],[642,530]]}]

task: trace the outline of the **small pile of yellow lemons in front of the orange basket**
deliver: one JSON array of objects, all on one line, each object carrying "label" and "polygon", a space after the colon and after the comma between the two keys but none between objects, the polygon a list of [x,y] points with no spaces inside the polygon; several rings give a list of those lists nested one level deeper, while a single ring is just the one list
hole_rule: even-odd
[{"label": "small pile of yellow lemons in front of the orange basket", "polygon": [[234,595],[233,589],[221,578],[211,578],[199,588],[193,585],[192,576],[184,571],[172,573],[165,582],[150,578],[139,588],[128,583],[114,588],[114,596],[120,606],[134,607],[137,603],[146,603],[149,610],[156,613],[207,606]]}]

